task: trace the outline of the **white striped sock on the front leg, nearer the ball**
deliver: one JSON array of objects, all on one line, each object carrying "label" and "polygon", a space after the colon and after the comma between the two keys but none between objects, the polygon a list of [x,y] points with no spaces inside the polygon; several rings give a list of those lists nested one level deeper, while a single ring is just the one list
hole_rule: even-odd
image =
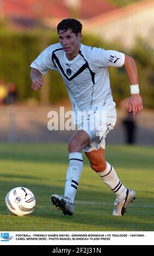
[{"label": "white striped sock on the front leg, nearer the ball", "polygon": [[69,154],[69,169],[66,173],[66,183],[64,196],[69,197],[74,203],[75,195],[77,192],[78,181],[81,176],[83,168],[83,160],[81,153],[70,153]]}]

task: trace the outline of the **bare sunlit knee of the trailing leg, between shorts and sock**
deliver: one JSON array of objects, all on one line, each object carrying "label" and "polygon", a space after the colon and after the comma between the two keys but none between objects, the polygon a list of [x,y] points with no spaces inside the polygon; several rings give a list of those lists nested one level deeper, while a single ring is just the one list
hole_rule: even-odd
[{"label": "bare sunlit knee of the trailing leg, between shorts and sock", "polygon": [[84,152],[88,157],[90,166],[96,172],[101,172],[106,169],[105,150],[100,148],[90,152]]}]

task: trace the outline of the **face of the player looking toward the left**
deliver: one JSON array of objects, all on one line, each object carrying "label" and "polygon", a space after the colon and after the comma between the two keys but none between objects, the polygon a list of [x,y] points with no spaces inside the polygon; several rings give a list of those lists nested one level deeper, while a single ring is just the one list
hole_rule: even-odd
[{"label": "face of the player looking toward the left", "polygon": [[77,36],[72,33],[71,29],[67,31],[59,30],[59,42],[63,47],[66,56],[73,56],[73,54],[78,54],[81,46],[82,34],[79,33]]}]

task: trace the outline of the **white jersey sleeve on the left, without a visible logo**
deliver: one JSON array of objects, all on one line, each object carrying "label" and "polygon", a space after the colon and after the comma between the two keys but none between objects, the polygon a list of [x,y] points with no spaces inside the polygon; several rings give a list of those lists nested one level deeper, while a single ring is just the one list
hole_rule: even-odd
[{"label": "white jersey sleeve on the left, without a visible logo", "polygon": [[40,55],[30,64],[31,68],[38,69],[42,75],[45,75],[47,70],[55,70],[52,62],[52,45],[47,47]]}]

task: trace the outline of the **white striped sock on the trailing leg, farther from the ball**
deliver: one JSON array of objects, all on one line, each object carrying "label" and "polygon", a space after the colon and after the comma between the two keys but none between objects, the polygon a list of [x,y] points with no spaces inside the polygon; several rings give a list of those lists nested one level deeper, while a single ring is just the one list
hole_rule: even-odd
[{"label": "white striped sock on the trailing leg, farther from the ball", "polygon": [[119,180],[115,169],[108,163],[103,172],[97,172],[102,178],[104,183],[116,194],[118,201],[121,202],[126,197],[127,188]]}]

